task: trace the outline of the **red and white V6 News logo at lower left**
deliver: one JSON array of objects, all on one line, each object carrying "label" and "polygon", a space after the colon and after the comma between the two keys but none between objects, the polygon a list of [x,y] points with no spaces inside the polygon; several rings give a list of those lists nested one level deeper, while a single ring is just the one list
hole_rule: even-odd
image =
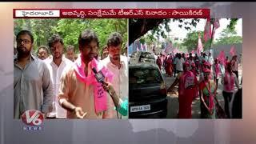
[{"label": "red and white V6 News logo at lower left", "polygon": [[43,114],[38,110],[26,110],[22,114],[22,122],[27,125],[23,130],[42,130]]}]

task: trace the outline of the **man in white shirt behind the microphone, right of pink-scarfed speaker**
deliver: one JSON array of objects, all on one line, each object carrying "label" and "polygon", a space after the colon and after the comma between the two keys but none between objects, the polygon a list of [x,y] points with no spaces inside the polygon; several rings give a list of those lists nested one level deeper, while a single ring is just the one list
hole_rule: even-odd
[{"label": "man in white shirt behind the microphone, right of pink-scarfed speaker", "polygon": [[[109,51],[108,57],[102,59],[101,65],[106,66],[114,74],[112,85],[118,96],[125,100],[128,98],[128,58],[121,55],[122,50],[122,36],[119,33],[110,34],[107,40],[107,49]],[[117,113],[113,109],[113,113]],[[128,118],[116,114],[118,118]]]}]

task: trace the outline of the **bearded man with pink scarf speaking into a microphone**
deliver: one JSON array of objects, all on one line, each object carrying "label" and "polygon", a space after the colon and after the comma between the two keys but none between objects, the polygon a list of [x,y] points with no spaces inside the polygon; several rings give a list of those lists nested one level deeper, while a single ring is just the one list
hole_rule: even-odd
[{"label": "bearded man with pink scarf speaking into a microphone", "polygon": [[109,71],[99,68],[97,63],[97,35],[92,30],[84,30],[79,35],[78,46],[78,58],[62,74],[58,102],[67,110],[66,118],[108,118],[109,107],[114,103],[110,103],[113,102],[110,95],[106,94],[93,72],[95,69],[98,73],[102,71],[105,81],[111,79]]}]

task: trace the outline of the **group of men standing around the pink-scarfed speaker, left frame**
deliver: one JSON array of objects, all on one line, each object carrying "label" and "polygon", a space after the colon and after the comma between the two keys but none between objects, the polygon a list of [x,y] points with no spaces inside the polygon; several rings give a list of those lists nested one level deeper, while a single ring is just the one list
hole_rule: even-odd
[{"label": "group of men standing around the pink-scarfed speaker, left frame", "polygon": [[[64,54],[64,42],[58,34],[49,38],[48,46],[39,46],[37,55],[32,53],[34,36],[30,31],[20,31],[16,42],[14,118],[21,118],[26,110],[40,110],[46,118],[127,118],[127,112],[118,111],[128,98],[128,66],[126,56],[121,55],[121,34],[110,34],[101,60],[93,30],[80,33],[77,56],[71,45]],[[103,82],[95,77],[97,72],[105,74]]]}]

